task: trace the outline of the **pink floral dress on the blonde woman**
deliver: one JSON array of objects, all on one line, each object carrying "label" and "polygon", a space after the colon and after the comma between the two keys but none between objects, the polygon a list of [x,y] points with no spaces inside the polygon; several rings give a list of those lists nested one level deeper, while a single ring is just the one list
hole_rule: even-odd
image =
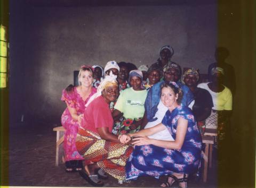
[{"label": "pink floral dress on the blonde woman", "polygon": [[[75,108],[78,115],[84,114],[85,104],[90,97],[97,92],[97,89],[92,87],[92,92],[89,97],[84,101],[83,98],[77,92],[77,88],[74,92],[68,94],[65,89],[62,91],[61,100],[67,102],[68,106]],[[61,116],[61,124],[65,128],[65,137],[63,142],[63,148],[65,151],[65,161],[69,160],[83,160],[84,158],[79,155],[76,149],[76,134],[78,131],[78,121],[75,121],[68,108],[65,109]]]}]

